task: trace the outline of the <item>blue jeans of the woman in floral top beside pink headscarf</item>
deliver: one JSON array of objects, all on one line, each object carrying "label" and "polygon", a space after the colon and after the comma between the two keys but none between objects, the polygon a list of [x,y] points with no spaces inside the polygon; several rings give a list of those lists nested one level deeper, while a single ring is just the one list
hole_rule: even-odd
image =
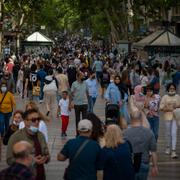
[{"label": "blue jeans of the woman in floral top beside pink headscarf", "polygon": [[153,116],[153,117],[147,117],[149,121],[150,128],[155,136],[155,139],[157,141],[158,139],[158,132],[159,132],[159,117]]}]

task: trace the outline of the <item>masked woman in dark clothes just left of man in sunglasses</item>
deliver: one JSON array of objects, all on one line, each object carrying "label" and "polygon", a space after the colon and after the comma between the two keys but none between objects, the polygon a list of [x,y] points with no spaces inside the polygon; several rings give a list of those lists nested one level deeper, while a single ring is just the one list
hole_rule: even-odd
[{"label": "masked woman in dark clothes just left of man in sunglasses", "polygon": [[17,110],[13,114],[12,124],[9,126],[7,133],[4,136],[3,144],[7,145],[9,138],[19,129],[19,124],[22,121],[23,111]]}]

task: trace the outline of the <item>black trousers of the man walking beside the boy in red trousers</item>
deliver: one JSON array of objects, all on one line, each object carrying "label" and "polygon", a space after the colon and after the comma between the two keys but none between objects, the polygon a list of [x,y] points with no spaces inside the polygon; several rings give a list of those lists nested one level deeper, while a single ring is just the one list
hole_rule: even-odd
[{"label": "black trousers of the man walking beside the boy in red trousers", "polygon": [[74,105],[74,110],[75,110],[75,116],[76,116],[76,129],[77,129],[78,123],[80,121],[81,113],[82,113],[82,119],[86,118],[86,115],[87,115],[87,104]]}]

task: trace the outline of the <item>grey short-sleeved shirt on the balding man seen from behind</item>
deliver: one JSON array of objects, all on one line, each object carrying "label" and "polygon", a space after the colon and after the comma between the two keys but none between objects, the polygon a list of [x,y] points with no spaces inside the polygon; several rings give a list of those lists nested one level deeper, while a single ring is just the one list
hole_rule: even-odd
[{"label": "grey short-sleeved shirt on the balding man seen from behind", "polygon": [[152,131],[143,126],[131,127],[124,131],[124,136],[131,143],[133,153],[142,153],[141,161],[149,163],[149,152],[156,152],[156,140]]}]

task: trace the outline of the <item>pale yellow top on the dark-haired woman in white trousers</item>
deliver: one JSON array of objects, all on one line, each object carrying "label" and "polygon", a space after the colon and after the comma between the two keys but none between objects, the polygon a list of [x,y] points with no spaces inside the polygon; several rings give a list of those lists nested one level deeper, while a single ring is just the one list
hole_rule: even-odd
[{"label": "pale yellow top on the dark-haired woman in white trousers", "polygon": [[[160,110],[163,111],[164,108],[173,108],[175,106],[180,106],[180,96],[175,95],[175,96],[169,96],[169,95],[164,95],[162,97],[161,103],[160,103]],[[163,113],[163,119],[166,121],[171,121],[174,119],[173,117],[173,110],[171,112],[164,112]]]}]

